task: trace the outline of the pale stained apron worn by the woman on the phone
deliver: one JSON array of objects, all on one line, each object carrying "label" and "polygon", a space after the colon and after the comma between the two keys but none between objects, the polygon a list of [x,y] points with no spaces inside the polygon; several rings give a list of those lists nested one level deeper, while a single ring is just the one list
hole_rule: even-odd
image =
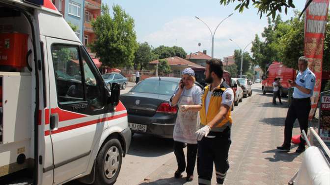
[{"label": "pale stained apron worn by the woman on the phone", "polygon": [[173,130],[173,139],[189,144],[197,144],[196,131],[199,126],[199,112],[182,112],[181,105],[194,105],[192,96],[182,96],[178,104],[179,111]]}]

